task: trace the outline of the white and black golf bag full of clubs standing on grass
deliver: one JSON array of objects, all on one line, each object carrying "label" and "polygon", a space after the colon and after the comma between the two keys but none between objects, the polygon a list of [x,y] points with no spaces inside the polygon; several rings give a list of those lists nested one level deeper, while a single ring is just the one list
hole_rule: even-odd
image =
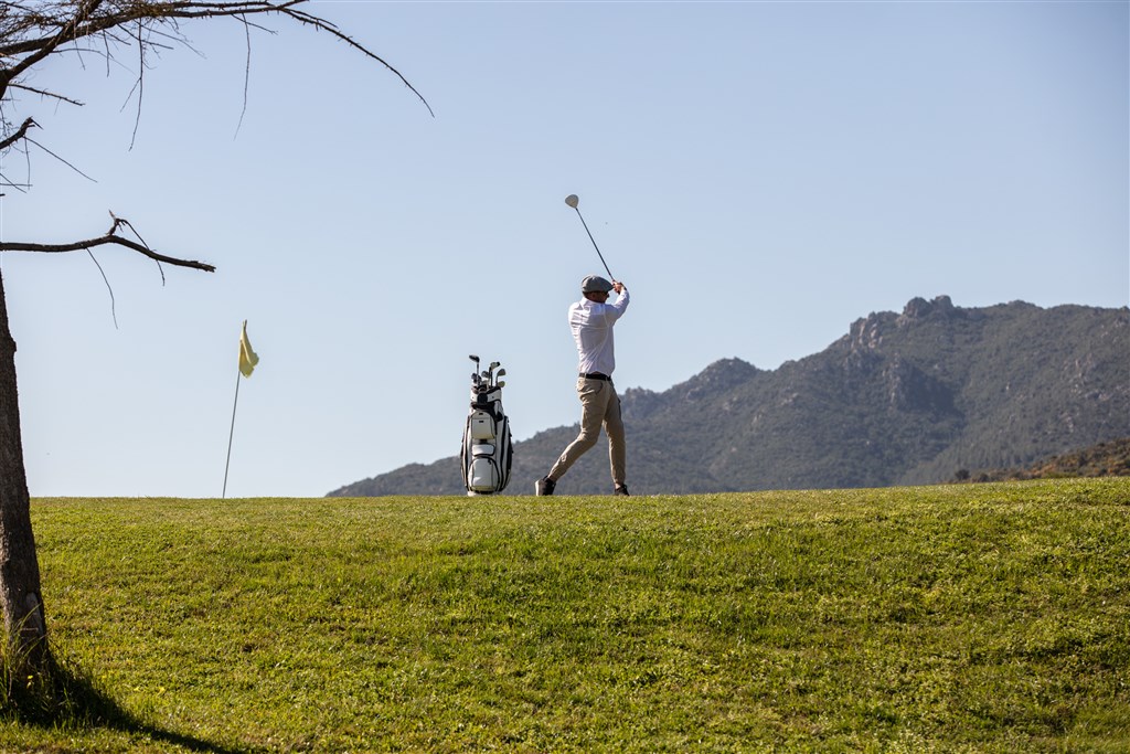
[{"label": "white and black golf bag full of clubs standing on grass", "polygon": [[493,495],[506,488],[513,444],[510,440],[510,421],[502,409],[499,380],[506,370],[498,370],[498,362],[481,374],[479,357],[471,356],[476,371],[471,373],[471,410],[463,428],[463,485],[468,495]]}]

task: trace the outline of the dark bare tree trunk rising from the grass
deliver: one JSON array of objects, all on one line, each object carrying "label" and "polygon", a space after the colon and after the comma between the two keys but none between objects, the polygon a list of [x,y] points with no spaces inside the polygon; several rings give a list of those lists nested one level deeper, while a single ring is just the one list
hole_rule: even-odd
[{"label": "dark bare tree trunk rising from the grass", "polygon": [[47,625],[40,597],[40,563],[32,534],[16,385],[16,341],[0,275],[0,607],[9,658],[41,667],[47,659]]}]

